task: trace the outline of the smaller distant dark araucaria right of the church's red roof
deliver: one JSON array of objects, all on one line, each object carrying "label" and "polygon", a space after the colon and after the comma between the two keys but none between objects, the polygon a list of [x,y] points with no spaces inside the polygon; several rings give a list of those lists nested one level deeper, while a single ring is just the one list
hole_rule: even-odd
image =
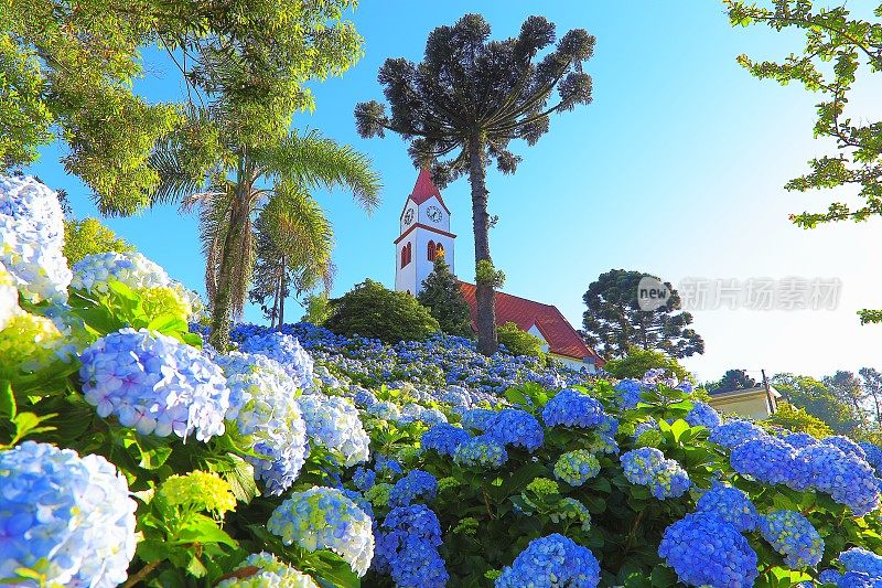
[{"label": "smaller distant dark araucaria right of the church's red roof", "polygon": [[[643,271],[611,269],[591,282],[582,297],[588,310],[582,318],[585,341],[601,354],[621,357],[630,346],[658,350],[671,357],[704,353],[704,341],[689,328],[692,316],[678,311],[680,297],[665,282],[670,297],[655,310],[643,310],[637,285]],[[658,278],[655,278],[658,279]],[[660,281],[660,280],[659,280]]]}]

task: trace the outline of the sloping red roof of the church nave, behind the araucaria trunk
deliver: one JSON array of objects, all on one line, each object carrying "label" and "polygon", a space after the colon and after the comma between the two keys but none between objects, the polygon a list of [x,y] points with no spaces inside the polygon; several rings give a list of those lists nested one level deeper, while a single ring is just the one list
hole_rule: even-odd
[{"label": "sloping red roof of the church nave, behind the araucaria trunk", "polygon": [[[475,319],[475,285],[465,281],[460,282],[465,301],[472,311],[472,323]],[[534,324],[542,333],[548,342],[548,350],[558,355],[583,360],[591,357],[594,364],[600,367],[605,362],[594,350],[585,345],[576,329],[563,318],[558,308],[552,304],[542,304],[512,296],[505,292],[496,292],[496,324],[514,322],[519,329],[528,331]]]}]

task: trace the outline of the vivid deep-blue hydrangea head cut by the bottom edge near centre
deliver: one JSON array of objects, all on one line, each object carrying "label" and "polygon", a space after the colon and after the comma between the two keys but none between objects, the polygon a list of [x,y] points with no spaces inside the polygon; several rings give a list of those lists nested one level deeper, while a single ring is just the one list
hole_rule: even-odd
[{"label": "vivid deep-blue hydrangea head cut by the bottom edge near centre", "polygon": [[600,564],[589,549],[555,533],[534,539],[510,567],[503,568],[495,588],[594,588],[600,584]]}]

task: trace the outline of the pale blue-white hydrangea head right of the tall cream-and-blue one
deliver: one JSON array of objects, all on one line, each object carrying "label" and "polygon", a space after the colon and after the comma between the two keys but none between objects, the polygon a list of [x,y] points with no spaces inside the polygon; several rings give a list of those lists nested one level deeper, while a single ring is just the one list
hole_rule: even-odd
[{"label": "pale blue-white hydrangea head right of the tall cream-and-blue one", "polygon": [[340,396],[304,394],[298,398],[298,404],[311,443],[338,451],[347,467],[368,460],[370,438],[362,426],[358,410],[349,400]]}]

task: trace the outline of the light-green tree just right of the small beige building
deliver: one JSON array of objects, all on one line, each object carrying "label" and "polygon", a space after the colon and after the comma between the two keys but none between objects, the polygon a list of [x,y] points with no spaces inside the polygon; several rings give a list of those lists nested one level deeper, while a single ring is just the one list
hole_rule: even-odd
[{"label": "light-green tree just right of the small beige building", "polygon": [[796,408],[822,420],[837,435],[853,435],[860,420],[853,408],[838,398],[824,382],[809,376],[776,374],[772,385]]}]

